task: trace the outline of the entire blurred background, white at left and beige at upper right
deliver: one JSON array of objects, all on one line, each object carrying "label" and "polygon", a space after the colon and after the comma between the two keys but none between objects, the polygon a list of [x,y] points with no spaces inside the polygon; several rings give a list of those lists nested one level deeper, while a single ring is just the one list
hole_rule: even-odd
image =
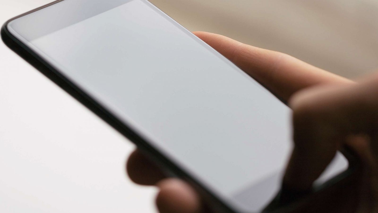
[{"label": "entire blurred background, white at left and beige at upper right", "polygon": [[[224,34],[349,78],[378,67],[376,0],[151,0]],[[50,0],[0,0],[0,22]],[[0,212],[156,212],[124,174],[133,145],[0,43]]]}]

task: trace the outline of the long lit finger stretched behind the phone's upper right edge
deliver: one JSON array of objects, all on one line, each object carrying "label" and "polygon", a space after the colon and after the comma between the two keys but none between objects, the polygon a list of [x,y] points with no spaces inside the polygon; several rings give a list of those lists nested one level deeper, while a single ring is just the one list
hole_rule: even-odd
[{"label": "long lit finger stretched behind the phone's upper right edge", "polygon": [[283,53],[246,45],[214,33],[194,34],[284,100],[309,86],[350,82]]}]

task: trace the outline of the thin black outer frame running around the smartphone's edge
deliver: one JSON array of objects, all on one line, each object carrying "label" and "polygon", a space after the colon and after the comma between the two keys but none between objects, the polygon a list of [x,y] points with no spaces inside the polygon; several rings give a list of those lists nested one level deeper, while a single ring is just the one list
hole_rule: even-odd
[{"label": "thin black outer frame running around the smartphone's edge", "polygon": [[[31,66],[39,70],[43,75],[49,78],[51,81],[56,83],[60,88],[64,91],[68,92],[72,97],[74,97],[77,101],[82,103],[86,108],[91,110],[95,113],[98,117],[102,120],[107,122],[110,126],[115,128],[119,133],[129,139],[132,143],[134,143],[138,149],[145,152],[149,157],[153,160],[156,160],[157,163],[164,168],[166,168],[172,175],[179,177],[190,183],[200,194],[201,196],[208,202],[210,202],[210,208],[215,210],[216,212],[236,212],[232,207],[227,205],[224,200],[220,199],[216,194],[213,194],[210,190],[207,189],[201,182],[195,180],[191,175],[185,172],[183,169],[180,168],[177,164],[170,161],[166,158],[162,153],[158,150],[150,146],[148,141],[141,138],[137,133],[135,133],[131,128],[129,128],[126,124],[122,123],[117,117],[115,117],[112,113],[110,113],[105,107],[102,107],[101,104],[95,101],[91,96],[87,93],[82,91],[78,86],[76,86],[73,82],[65,78],[58,70],[56,70],[51,64],[43,60],[41,56],[39,56],[36,52],[30,49],[27,45],[25,45],[22,41],[17,39],[12,33],[8,30],[8,23],[12,20],[18,19],[22,16],[26,16],[30,13],[34,13],[40,9],[49,7],[56,3],[62,2],[64,0],[56,0],[54,2],[48,3],[46,5],[40,6],[36,9],[23,13],[19,16],[16,16],[12,19],[6,21],[1,28],[0,34],[3,42],[17,55],[27,61]],[[157,7],[156,7],[157,8]],[[159,8],[157,8],[159,9]],[[159,9],[160,10],[160,9]],[[161,11],[161,10],[160,10]],[[164,13],[163,11],[161,11]],[[168,15],[167,15],[168,16]],[[259,82],[260,83],[260,82]],[[261,84],[261,83],[260,83]],[[265,85],[261,84],[266,89],[270,91]],[[271,92],[271,91],[270,91]],[[281,97],[277,96],[273,93],[278,99],[280,99],[283,103],[287,104]],[[350,179],[353,179],[355,174],[357,173],[356,170],[358,169],[358,160],[355,157],[354,152],[349,149],[348,147],[344,147],[342,153],[345,155],[347,160],[349,161],[349,168],[344,172],[336,175],[332,179],[328,180],[321,186],[314,188],[313,193],[308,194],[300,199],[297,199],[295,202],[291,202],[289,204],[280,205],[274,210],[264,211],[264,212],[290,212],[293,211],[295,208],[300,207],[301,204],[308,202],[311,198],[321,196],[322,193],[327,192],[327,188],[342,184],[343,182],[347,182]]]}]

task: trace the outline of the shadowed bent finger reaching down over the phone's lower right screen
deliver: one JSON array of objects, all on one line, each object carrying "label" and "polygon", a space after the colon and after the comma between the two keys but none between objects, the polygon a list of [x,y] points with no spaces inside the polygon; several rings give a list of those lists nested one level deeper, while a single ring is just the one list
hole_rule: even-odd
[{"label": "shadowed bent finger reaching down over the phone's lower right screen", "polygon": [[290,106],[295,146],[284,176],[285,186],[308,190],[348,138],[376,132],[375,82],[322,86],[294,95]]}]

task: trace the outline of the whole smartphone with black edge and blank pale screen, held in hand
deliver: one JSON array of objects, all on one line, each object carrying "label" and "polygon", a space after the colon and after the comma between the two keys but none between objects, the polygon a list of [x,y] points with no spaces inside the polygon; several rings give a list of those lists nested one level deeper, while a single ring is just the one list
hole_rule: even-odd
[{"label": "whole smartphone with black edge and blank pale screen, held in hand", "polygon": [[[217,211],[263,211],[279,192],[290,108],[147,0],[59,0],[1,35]],[[317,185],[350,171],[338,153]]]}]

